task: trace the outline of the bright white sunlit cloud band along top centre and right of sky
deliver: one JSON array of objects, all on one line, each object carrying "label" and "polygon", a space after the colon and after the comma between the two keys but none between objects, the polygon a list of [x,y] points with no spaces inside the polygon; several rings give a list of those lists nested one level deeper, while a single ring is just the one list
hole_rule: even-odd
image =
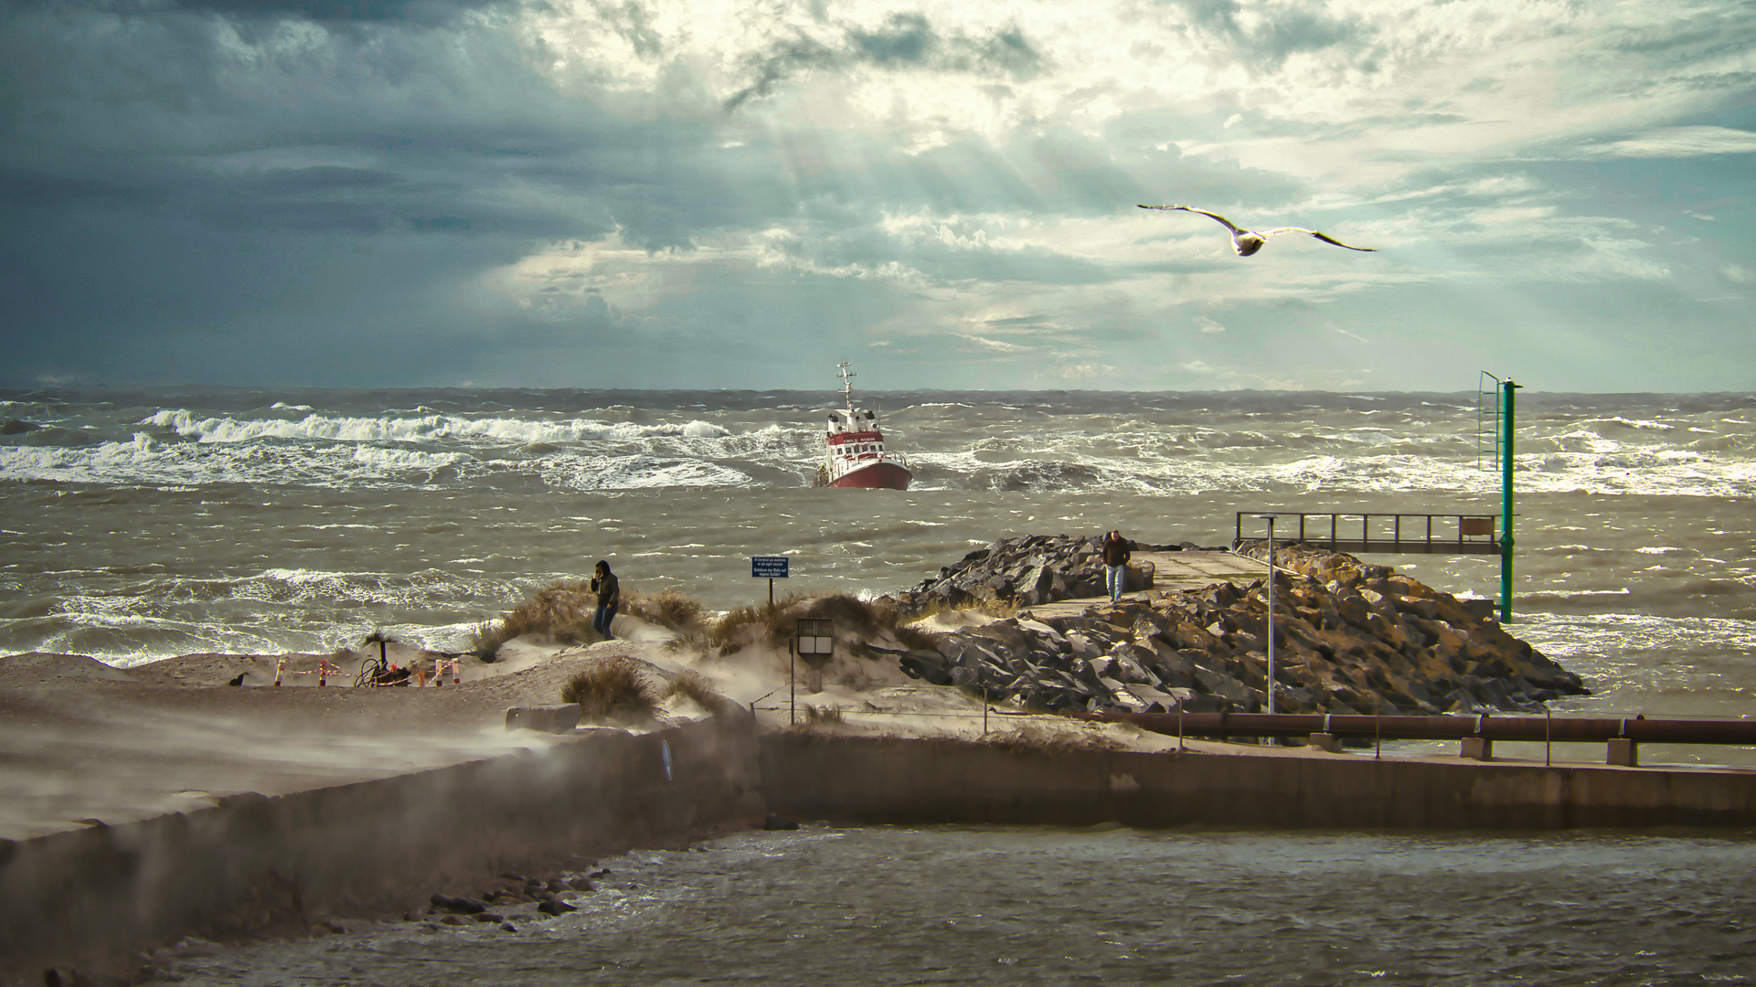
[{"label": "bright white sunlit cloud band along top centre and right of sky", "polygon": [[[1747,70],[1751,58],[1737,46],[1698,44],[1672,60],[1652,35],[1726,9],[551,0],[525,9],[522,32],[560,86],[643,112],[715,116],[734,105],[745,118],[729,121],[734,128],[806,125],[920,151],[966,135],[1004,144],[1052,126],[1099,135],[1136,111],[1169,109],[1154,142],[1185,156],[1357,186],[1688,105],[1703,81]],[[1614,47],[1630,40],[1658,53]],[[1617,153],[1730,146],[1724,135],[1695,133],[1719,128],[1679,130],[1688,133],[1624,142]]]}]

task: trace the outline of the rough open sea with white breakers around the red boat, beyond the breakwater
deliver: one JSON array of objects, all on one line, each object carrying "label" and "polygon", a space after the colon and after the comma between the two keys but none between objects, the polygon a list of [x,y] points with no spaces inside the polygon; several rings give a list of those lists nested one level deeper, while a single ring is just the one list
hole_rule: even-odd
[{"label": "rough open sea with white breakers around the red boat, beyond the breakwater", "polygon": [[[752,555],[878,594],[1004,534],[1500,508],[1475,393],[866,399],[913,490],[810,486],[827,388],[0,392],[35,427],[0,436],[0,653],[457,646],[597,558],[730,608]],[[1756,711],[1756,395],[1524,392],[1517,451],[1515,630],[1600,690],[1577,708]],[[1498,594],[1493,558],[1380,560]]]}]

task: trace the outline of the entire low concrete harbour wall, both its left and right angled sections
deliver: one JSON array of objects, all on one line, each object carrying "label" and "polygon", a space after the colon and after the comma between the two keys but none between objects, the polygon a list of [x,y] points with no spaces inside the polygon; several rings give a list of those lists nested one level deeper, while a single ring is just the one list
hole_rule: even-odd
[{"label": "entire low concrete harbour wall, both its left and right angled sections", "polygon": [[[666,773],[664,753],[671,753]],[[119,973],[188,934],[400,915],[499,873],[676,845],[767,811],[887,824],[1335,829],[1756,825],[1756,773],[1361,755],[1043,752],[778,732],[745,711],[0,843],[0,983]]]}]

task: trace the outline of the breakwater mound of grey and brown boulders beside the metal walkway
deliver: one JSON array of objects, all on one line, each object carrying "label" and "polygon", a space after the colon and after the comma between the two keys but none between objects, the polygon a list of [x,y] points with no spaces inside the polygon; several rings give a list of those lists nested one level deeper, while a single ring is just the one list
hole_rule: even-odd
[{"label": "breakwater mound of grey and brown boulders beside the metal walkway", "polygon": [[[1479,608],[1389,567],[1305,546],[1278,548],[1275,564],[1280,711],[1536,711],[1587,692]],[[1050,576],[1052,566],[1071,569]],[[1101,587],[1098,566],[1092,539],[1003,541],[904,599],[1052,602]],[[961,629],[901,660],[915,678],[1054,711],[1169,711],[1178,701],[1189,711],[1256,711],[1266,708],[1266,580],[1145,594]]]}]

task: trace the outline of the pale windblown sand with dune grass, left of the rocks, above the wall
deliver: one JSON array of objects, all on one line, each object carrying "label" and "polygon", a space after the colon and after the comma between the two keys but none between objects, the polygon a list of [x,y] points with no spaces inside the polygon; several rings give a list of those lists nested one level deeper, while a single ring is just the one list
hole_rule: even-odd
[{"label": "pale windblown sand with dune grass, left of the rocks, above the wall", "polygon": [[[939,627],[983,620],[941,615]],[[565,681],[594,664],[629,657],[653,680],[694,673],[759,722],[897,736],[983,734],[982,704],[957,688],[924,685],[894,662],[838,659],[820,694],[787,690],[787,657],[748,650],[704,660],[671,646],[671,634],[622,616],[627,638],[595,645],[515,639],[497,660],[460,659],[460,683],[355,688],[376,646],[344,655],[184,655],[118,669],[79,655],[0,659],[0,838],[26,839],[97,824],[121,824],[211,806],[239,792],[277,796],[388,778],[555,743],[553,734],[509,731],[515,706],[557,706]],[[428,673],[437,655],[404,645],[388,660]],[[277,662],[286,667],[274,687]],[[341,666],[318,687],[320,660]],[[244,683],[228,685],[239,674]],[[841,710],[820,722],[813,710]],[[709,713],[681,695],[648,722],[581,724],[646,732]],[[992,734],[1061,732],[1092,743],[1161,750],[1175,739],[1133,727],[1059,717],[992,713]],[[1101,739],[1099,739],[1101,738]],[[1222,745],[1215,745],[1222,746]]]}]

